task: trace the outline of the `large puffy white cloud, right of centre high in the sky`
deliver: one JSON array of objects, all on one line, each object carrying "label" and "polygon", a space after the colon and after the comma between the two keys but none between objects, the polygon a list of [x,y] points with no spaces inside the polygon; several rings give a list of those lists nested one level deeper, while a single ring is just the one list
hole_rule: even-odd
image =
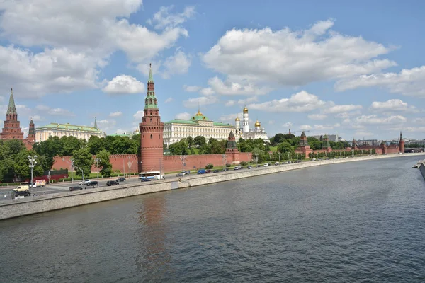
[{"label": "large puffy white cloud, right of centre high in the sky", "polygon": [[319,21],[308,30],[228,30],[202,59],[230,81],[302,86],[314,81],[370,74],[395,66],[378,59],[387,47],[363,37],[341,35]]}]

